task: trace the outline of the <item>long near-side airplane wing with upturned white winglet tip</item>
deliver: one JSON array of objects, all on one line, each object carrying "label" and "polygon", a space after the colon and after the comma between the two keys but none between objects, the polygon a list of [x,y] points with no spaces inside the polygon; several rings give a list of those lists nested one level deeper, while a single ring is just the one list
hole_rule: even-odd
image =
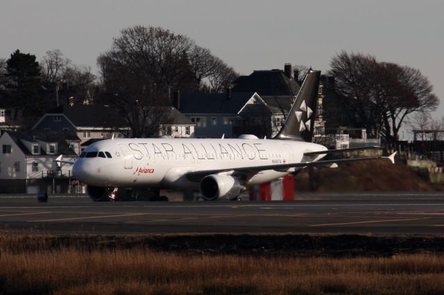
[{"label": "long near-side airplane wing with upturned white winglet tip", "polygon": [[390,156],[376,156],[376,157],[363,157],[363,158],[351,158],[351,159],[334,159],[334,160],[324,160],[324,161],[311,161],[311,162],[300,162],[300,163],[289,163],[289,164],[273,164],[273,165],[263,165],[263,166],[252,166],[252,167],[237,167],[229,169],[211,169],[211,170],[196,170],[187,172],[187,179],[190,181],[200,181],[203,177],[212,174],[218,174],[221,172],[232,172],[232,174],[253,174],[262,170],[284,170],[288,168],[303,168],[309,166],[323,166],[332,163],[343,163],[343,162],[354,162],[354,161],[368,161],[368,160],[379,160],[379,159],[389,159],[391,163],[395,163],[396,152],[393,152]]}]

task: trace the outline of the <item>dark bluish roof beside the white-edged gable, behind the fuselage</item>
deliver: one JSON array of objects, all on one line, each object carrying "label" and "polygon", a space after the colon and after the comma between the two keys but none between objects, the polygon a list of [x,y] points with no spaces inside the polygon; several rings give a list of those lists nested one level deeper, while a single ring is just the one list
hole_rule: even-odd
[{"label": "dark bluish roof beside the white-edged gable, behind the fuselage", "polygon": [[225,93],[184,93],[180,95],[180,111],[183,114],[237,114],[254,91]]}]

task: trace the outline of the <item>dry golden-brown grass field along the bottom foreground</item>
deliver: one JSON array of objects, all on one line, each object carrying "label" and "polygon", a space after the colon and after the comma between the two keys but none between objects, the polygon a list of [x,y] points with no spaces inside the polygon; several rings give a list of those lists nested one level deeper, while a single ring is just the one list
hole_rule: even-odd
[{"label": "dry golden-brown grass field along the bottom foreground", "polygon": [[444,294],[444,256],[430,253],[263,257],[40,240],[0,236],[0,294]]}]

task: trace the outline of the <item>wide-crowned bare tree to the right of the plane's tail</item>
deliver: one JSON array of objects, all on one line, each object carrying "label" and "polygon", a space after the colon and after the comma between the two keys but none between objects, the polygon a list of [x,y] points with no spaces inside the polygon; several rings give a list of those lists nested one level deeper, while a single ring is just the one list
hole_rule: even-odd
[{"label": "wide-crowned bare tree to the right of the plane's tail", "polygon": [[433,111],[438,105],[432,85],[417,69],[344,51],[333,58],[330,66],[336,91],[361,118],[369,134],[374,129],[375,136],[383,133],[396,142],[406,116]]}]

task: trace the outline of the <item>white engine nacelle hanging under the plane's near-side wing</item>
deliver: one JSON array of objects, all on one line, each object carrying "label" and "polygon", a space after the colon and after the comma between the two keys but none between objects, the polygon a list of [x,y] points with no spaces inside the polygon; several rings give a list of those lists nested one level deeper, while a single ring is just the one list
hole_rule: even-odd
[{"label": "white engine nacelle hanging under the plane's near-side wing", "polygon": [[234,199],[244,190],[236,177],[227,175],[208,175],[200,181],[200,193],[204,199]]}]

